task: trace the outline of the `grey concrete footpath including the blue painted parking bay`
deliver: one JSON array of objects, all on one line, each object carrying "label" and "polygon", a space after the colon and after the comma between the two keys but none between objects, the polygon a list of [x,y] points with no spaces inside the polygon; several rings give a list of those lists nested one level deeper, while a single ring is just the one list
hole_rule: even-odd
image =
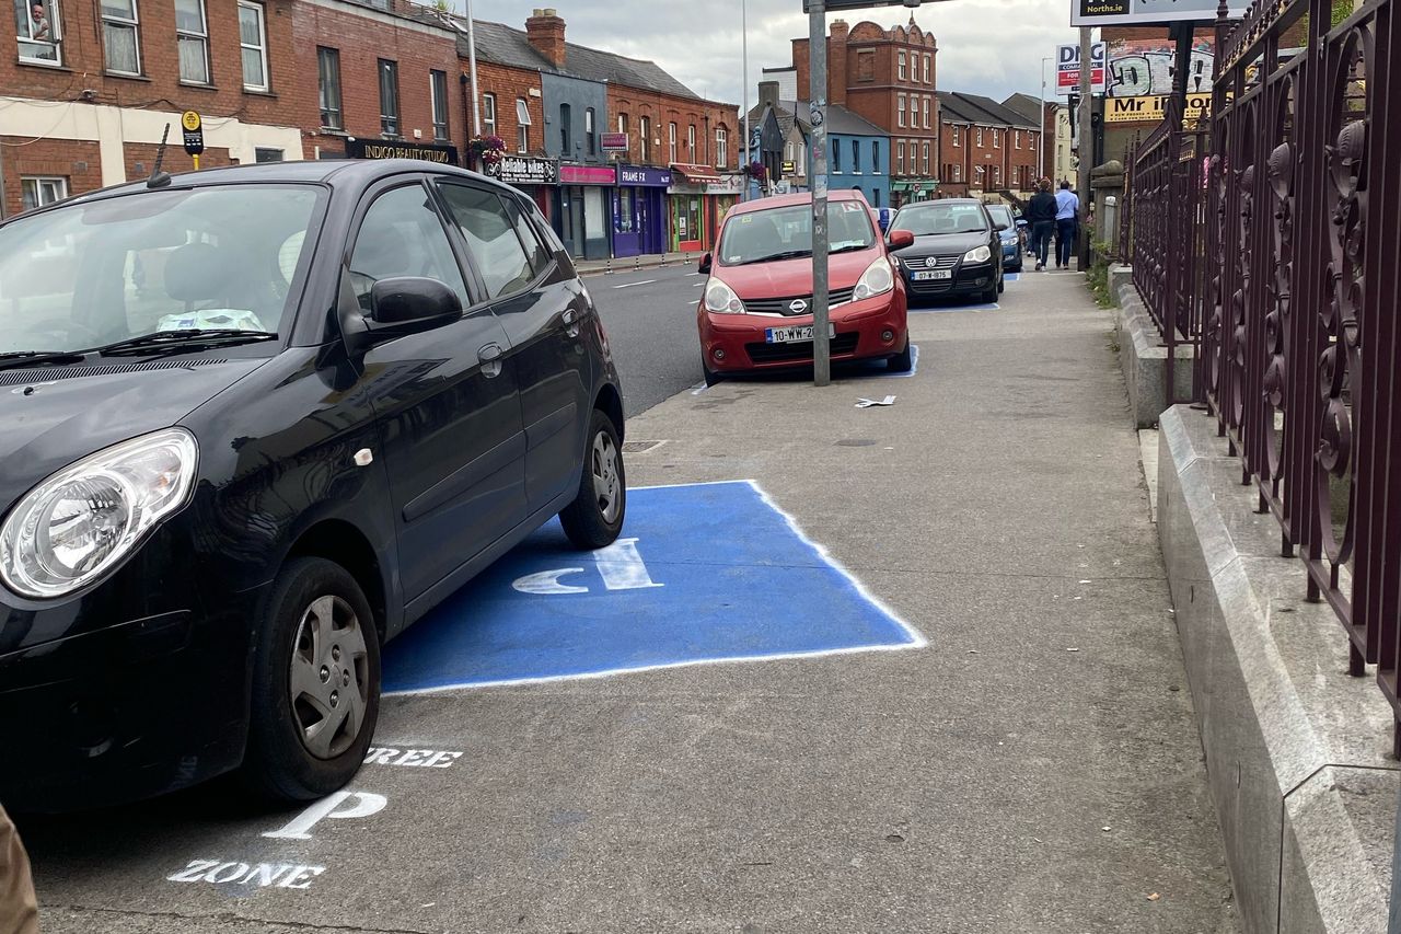
[{"label": "grey concrete footpath including the blue painted parking bay", "polygon": [[45,934],[1234,934],[1110,313],[911,330],[632,418],[623,540],[389,644],[345,792],[24,823]]}]

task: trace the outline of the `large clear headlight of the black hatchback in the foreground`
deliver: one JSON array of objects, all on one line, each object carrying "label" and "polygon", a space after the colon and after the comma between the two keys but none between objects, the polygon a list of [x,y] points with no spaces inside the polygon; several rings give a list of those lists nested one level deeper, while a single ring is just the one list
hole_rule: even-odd
[{"label": "large clear headlight of the black hatchback in the foreground", "polygon": [[195,438],[171,428],[53,474],[0,526],[0,578],[34,599],[60,597],[91,583],[185,505],[196,459]]}]

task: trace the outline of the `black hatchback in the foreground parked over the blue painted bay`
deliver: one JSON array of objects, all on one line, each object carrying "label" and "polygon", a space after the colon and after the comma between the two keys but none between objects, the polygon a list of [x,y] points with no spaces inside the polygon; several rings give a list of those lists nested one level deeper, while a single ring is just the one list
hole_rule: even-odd
[{"label": "black hatchback in the foreground parked over the blue painted bay", "polygon": [[420,161],[0,224],[0,801],[361,763],[380,647],[538,526],[622,527],[622,395],[535,206]]}]

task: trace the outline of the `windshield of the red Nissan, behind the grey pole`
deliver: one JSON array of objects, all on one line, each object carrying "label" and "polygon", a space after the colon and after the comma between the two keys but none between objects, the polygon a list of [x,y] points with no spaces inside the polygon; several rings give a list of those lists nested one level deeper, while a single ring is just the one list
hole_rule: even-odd
[{"label": "windshield of the red Nissan, behind the grey pole", "polygon": [[[874,245],[870,212],[859,201],[827,202],[828,248],[864,250]],[[813,206],[789,205],[734,215],[720,234],[720,265],[737,266],[764,259],[794,259],[813,252]]]}]

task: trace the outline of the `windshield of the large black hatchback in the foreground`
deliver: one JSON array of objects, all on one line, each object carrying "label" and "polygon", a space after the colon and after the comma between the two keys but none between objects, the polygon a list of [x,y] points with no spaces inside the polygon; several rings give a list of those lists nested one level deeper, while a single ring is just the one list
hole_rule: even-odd
[{"label": "windshield of the large black hatchback in the foreground", "polygon": [[322,189],[142,191],[0,227],[0,353],[283,327]]}]

